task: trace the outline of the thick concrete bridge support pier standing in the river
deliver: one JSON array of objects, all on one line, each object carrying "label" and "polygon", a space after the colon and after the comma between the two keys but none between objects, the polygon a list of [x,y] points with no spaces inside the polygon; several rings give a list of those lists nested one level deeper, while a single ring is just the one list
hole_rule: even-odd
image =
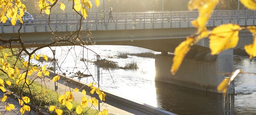
[{"label": "thick concrete bridge support pier standing in the river", "polygon": [[[233,50],[217,55],[215,61],[205,62],[184,59],[175,75],[170,72],[174,55],[155,55],[156,81],[163,81],[188,88],[217,92],[217,86],[224,79],[222,73],[234,71]],[[234,90],[234,85],[231,85]]]}]

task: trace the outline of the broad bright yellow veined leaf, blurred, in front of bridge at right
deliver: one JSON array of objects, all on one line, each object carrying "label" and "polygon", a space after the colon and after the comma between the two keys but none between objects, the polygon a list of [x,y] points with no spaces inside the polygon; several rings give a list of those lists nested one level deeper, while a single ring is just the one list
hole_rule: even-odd
[{"label": "broad bright yellow veined leaf, blurred, in front of bridge at right", "polygon": [[211,54],[215,55],[223,50],[236,47],[239,40],[239,29],[240,26],[235,24],[224,24],[215,27],[209,36]]}]

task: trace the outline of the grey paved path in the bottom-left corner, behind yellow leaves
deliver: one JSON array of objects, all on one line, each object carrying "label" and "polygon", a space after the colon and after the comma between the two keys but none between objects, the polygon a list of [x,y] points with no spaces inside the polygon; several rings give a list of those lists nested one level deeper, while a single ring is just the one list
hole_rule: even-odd
[{"label": "grey paved path in the bottom-left corner, behind yellow leaves", "polygon": [[[3,94],[5,94],[5,92],[2,92],[0,91],[0,97],[3,97]],[[19,112],[19,109],[20,109],[20,105],[19,105],[19,102],[17,99],[14,99],[13,97],[10,97],[7,95],[7,99],[5,102],[0,102],[0,112],[1,112],[1,115],[20,115],[20,112]],[[9,98],[10,97],[10,98]],[[8,105],[7,103],[9,104],[14,104],[15,106],[15,109],[14,110],[11,110],[10,112],[8,112],[7,110],[5,110],[5,105]],[[25,113],[26,115],[29,114],[29,113]],[[25,115],[23,114],[23,115]],[[36,114],[36,112],[34,110],[31,109],[31,115],[38,115]]]}]

